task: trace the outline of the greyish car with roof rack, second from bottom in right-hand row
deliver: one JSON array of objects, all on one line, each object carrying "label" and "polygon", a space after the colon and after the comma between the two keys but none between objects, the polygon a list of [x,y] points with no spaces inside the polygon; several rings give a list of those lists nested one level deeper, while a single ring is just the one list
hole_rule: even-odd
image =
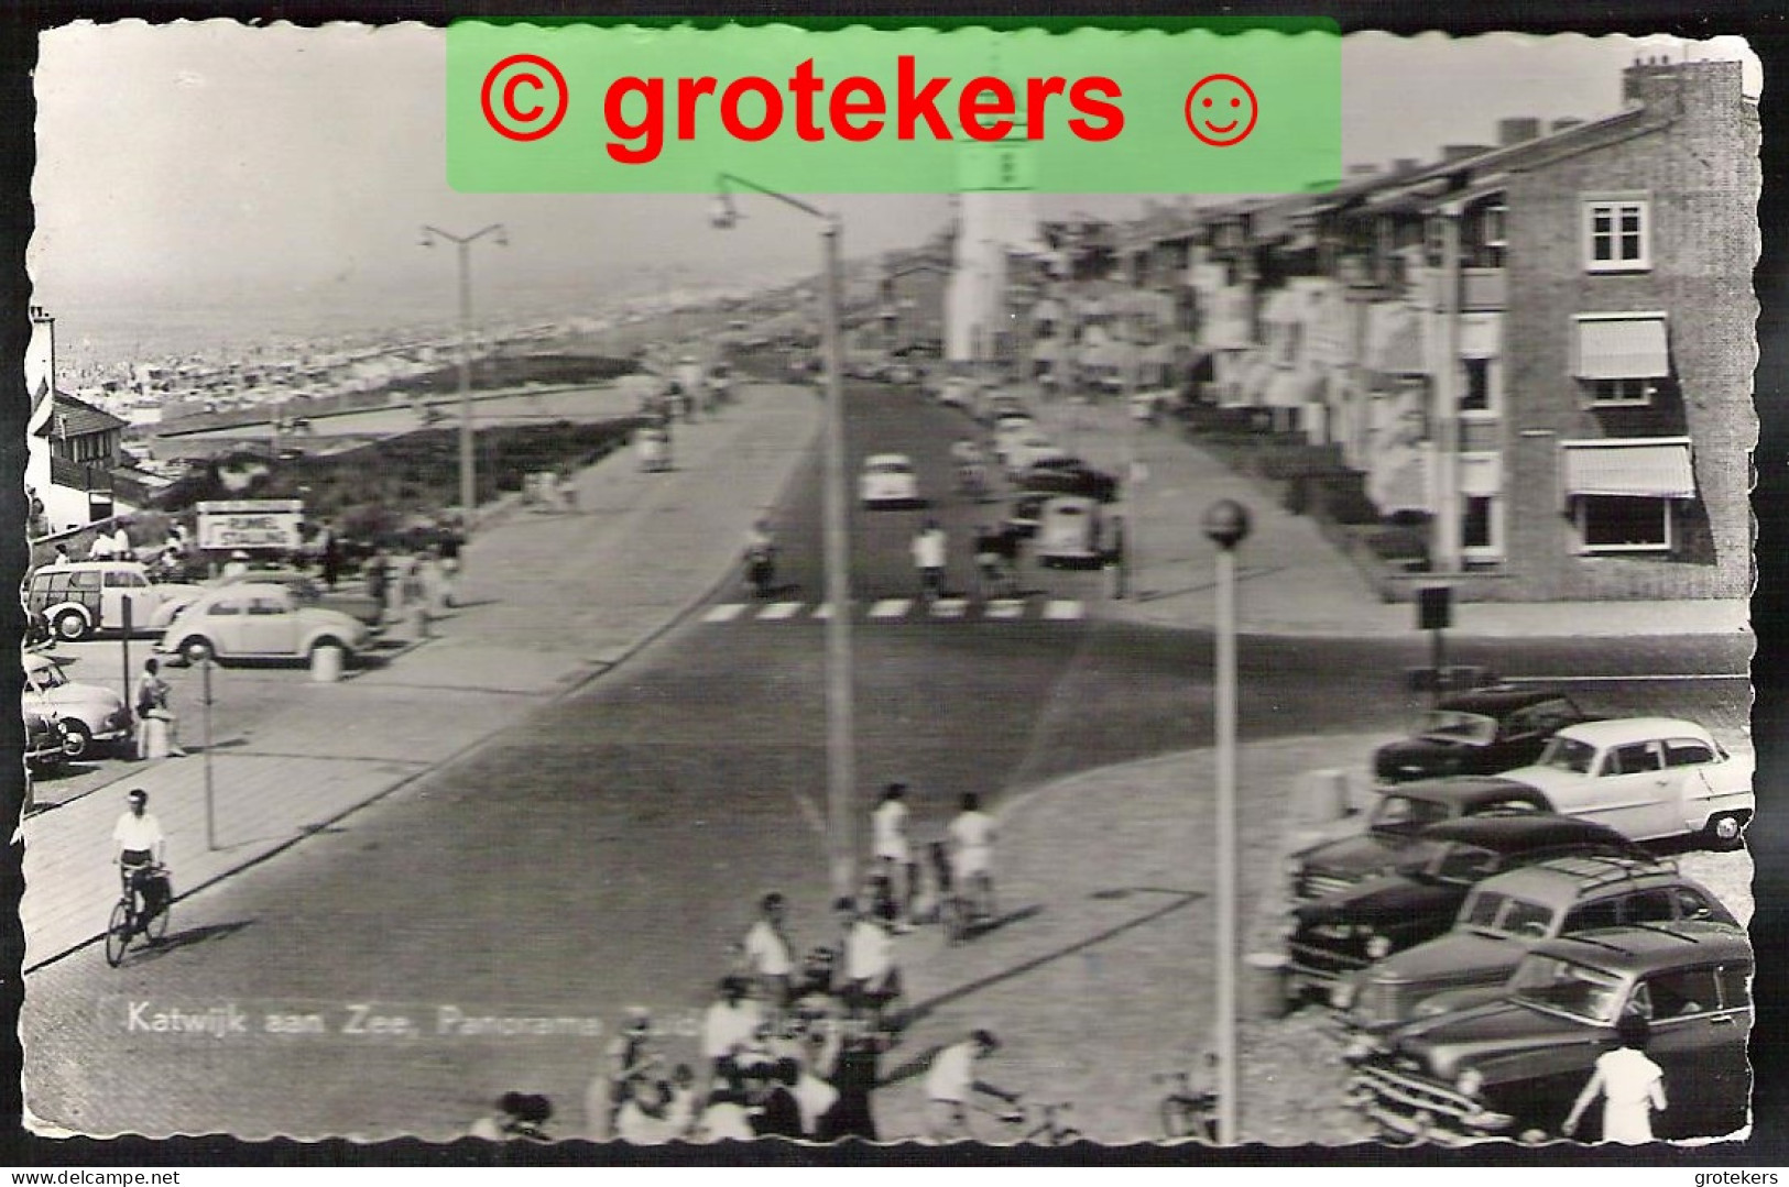
[{"label": "greyish car with roof rack, second from bottom in right-hand row", "polygon": [[1472,887],[1447,935],[1340,980],[1331,1005],[1351,1026],[1376,1030],[1463,1005],[1454,990],[1492,990],[1542,940],[1599,928],[1734,915],[1673,862],[1573,854],[1515,869]]}]

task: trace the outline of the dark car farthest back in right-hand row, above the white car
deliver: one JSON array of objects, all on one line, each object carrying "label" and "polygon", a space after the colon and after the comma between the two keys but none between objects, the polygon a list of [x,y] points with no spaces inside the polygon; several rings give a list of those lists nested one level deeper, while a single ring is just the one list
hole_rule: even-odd
[{"label": "dark car farthest back in right-hand row, above the white car", "polygon": [[1526,767],[1555,731],[1590,720],[1571,697],[1544,688],[1492,685],[1447,697],[1415,733],[1372,756],[1383,783],[1449,774],[1497,774]]}]

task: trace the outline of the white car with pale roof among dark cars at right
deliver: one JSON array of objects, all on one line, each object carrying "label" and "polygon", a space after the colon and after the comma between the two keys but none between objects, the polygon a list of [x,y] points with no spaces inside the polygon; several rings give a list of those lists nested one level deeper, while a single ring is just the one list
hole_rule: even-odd
[{"label": "white car with pale roof among dark cars at right", "polygon": [[1751,776],[1751,758],[1728,754],[1696,722],[1671,717],[1569,726],[1535,765],[1505,774],[1542,792],[1556,812],[1633,840],[1698,835],[1716,849],[1742,842],[1755,806]]}]

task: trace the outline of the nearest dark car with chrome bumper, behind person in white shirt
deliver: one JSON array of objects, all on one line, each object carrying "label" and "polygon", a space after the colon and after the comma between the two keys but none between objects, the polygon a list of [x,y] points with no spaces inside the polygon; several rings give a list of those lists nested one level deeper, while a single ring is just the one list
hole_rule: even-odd
[{"label": "nearest dark car with chrome bumper, behind person in white shirt", "polygon": [[[1385,1137],[1458,1146],[1556,1137],[1615,1021],[1651,1023],[1648,1055],[1669,1107],[1662,1141],[1723,1137],[1746,1123],[1751,946],[1726,922],[1608,928],[1547,940],[1496,999],[1358,1035],[1347,1103]],[[1576,1137],[1601,1135],[1590,1108]]]}]

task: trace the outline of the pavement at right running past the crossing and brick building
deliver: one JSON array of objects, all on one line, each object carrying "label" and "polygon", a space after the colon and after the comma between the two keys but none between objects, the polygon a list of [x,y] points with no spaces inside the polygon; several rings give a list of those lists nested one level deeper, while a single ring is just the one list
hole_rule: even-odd
[{"label": "pavement at right running past the crossing and brick building", "polygon": [[[1188,442],[1179,425],[1132,422],[1116,400],[1077,404],[1032,400],[1045,427],[1066,449],[1116,476],[1134,456],[1143,481],[1127,483],[1125,549],[1131,595],[1107,599],[1106,617],[1156,626],[1209,627],[1217,613],[1217,545],[1202,527],[1218,499],[1249,508],[1252,529],[1236,554],[1238,627],[1252,635],[1410,636],[1417,611],[1383,602],[1354,563],[1317,526],[1292,515],[1251,479]],[[1132,454],[1134,450],[1134,454]],[[1463,602],[1454,635],[1635,636],[1748,631],[1742,601],[1676,602]]]}]

